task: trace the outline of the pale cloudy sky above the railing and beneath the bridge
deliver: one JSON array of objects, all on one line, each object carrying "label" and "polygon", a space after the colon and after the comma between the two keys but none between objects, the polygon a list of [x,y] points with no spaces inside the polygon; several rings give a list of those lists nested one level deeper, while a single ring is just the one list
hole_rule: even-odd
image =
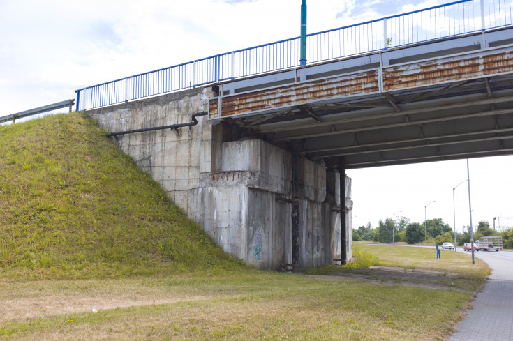
[{"label": "pale cloudy sky above the railing and beneath the bridge", "polygon": [[[309,0],[314,33],[447,1]],[[299,36],[300,0],[0,0],[0,116],[75,98],[75,90],[158,68]],[[0,137],[1,138],[1,137]],[[470,159],[473,225],[513,227],[513,157]],[[453,226],[452,188],[466,160],[356,169],[353,227],[401,215]],[[466,183],[456,227],[470,224]],[[398,213],[402,211],[401,213]],[[507,220],[505,217],[510,217]],[[504,224],[503,224],[504,223]]]}]

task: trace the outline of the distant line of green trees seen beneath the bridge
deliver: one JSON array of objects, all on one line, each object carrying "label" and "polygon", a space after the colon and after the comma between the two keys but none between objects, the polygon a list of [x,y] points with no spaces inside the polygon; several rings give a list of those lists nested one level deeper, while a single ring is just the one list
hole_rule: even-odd
[{"label": "distant line of green trees seen beneath the bridge", "polygon": [[[378,243],[405,242],[415,244],[425,241],[441,245],[445,242],[454,243],[454,230],[443,222],[441,218],[426,220],[419,224],[410,222],[406,217],[400,217],[400,220],[387,218],[380,220],[379,226],[374,229],[371,222],[366,226],[360,226],[358,229],[352,229],[352,241],[376,241]],[[493,231],[489,222],[480,221],[475,227],[474,241],[482,236],[502,236],[503,248],[513,248],[513,228],[506,229],[503,232]],[[463,246],[463,243],[470,243],[470,227],[466,227],[463,233],[456,232],[456,245]]]}]

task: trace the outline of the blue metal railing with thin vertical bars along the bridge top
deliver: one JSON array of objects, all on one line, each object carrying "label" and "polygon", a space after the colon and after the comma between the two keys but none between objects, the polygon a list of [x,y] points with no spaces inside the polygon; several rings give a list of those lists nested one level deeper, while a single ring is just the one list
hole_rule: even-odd
[{"label": "blue metal railing with thin vertical bars along the bridge top", "polygon": [[[309,34],[308,63],[513,24],[513,0],[461,0]],[[77,110],[299,66],[299,37],[249,47],[75,91]]]}]

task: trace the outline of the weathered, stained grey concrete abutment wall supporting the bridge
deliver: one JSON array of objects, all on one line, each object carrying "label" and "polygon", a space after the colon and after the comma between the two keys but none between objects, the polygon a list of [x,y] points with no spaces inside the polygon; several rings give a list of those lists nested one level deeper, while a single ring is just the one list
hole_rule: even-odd
[{"label": "weathered, stained grey concrete abutment wall supporting the bridge", "polygon": [[[193,89],[88,111],[111,132],[191,121],[214,96]],[[141,169],[161,183],[177,205],[223,249],[257,268],[292,263],[291,153],[261,139],[230,140],[223,124],[207,116],[198,125],[113,137]],[[299,162],[299,265],[340,259],[339,172],[302,158]],[[350,202],[346,178],[345,208]],[[352,257],[350,210],[348,259]]]}]

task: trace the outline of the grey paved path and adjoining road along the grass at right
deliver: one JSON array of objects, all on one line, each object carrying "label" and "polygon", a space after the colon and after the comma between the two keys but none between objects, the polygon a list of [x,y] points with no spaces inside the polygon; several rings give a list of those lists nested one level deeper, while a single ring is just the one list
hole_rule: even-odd
[{"label": "grey paved path and adjoining road along the grass at right", "polygon": [[449,341],[513,340],[513,260],[503,257],[505,253],[476,252],[492,273]]}]

